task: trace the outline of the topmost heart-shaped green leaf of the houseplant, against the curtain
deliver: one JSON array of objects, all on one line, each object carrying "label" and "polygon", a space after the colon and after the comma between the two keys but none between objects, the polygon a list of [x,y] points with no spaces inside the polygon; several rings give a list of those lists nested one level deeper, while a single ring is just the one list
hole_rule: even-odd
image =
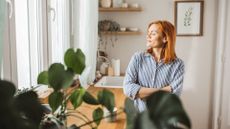
[{"label": "topmost heart-shaped green leaf of the houseplant, against the curtain", "polygon": [[67,67],[72,68],[76,74],[81,74],[85,69],[85,55],[81,49],[74,52],[73,48],[66,51],[64,61]]}]

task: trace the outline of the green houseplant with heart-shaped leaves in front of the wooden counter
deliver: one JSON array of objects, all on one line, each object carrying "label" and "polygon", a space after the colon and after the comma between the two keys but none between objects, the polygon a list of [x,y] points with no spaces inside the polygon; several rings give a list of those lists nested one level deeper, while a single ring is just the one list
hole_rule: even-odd
[{"label": "green houseplant with heart-shaped leaves in front of the wooden counter", "polygon": [[[80,126],[72,125],[72,128],[78,129],[85,125],[96,128],[103,118],[102,107],[107,108],[111,114],[114,114],[114,95],[104,89],[98,92],[97,98],[95,98],[81,87],[79,76],[85,68],[85,55],[80,49],[76,51],[72,48],[68,49],[64,55],[64,62],[65,64],[53,63],[48,71],[43,71],[38,75],[38,84],[48,85],[54,90],[48,97],[52,113],[45,117],[46,119],[42,121],[41,125],[45,125],[47,121],[53,121],[58,127],[67,128],[66,117],[76,116],[85,121],[85,124]],[[75,86],[71,87],[73,84]],[[93,111],[92,121],[80,112],[72,112],[81,106],[82,102],[102,106]],[[71,103],[72,107],[67,106],[68,103]]]}]

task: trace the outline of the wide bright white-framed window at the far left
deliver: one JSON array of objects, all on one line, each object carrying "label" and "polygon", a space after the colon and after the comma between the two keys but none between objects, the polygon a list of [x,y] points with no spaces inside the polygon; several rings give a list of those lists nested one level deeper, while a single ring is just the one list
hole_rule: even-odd
[{"label": "wide bright white-framed window at the far left", "polygon": [[13,81],[18,88],[26,88],[37,85],[37,75],[47,63],[46,12],[42,9],[45,3],[40,0],[12,2],[13,15],[10,19],[6,17],[1,78]]}]

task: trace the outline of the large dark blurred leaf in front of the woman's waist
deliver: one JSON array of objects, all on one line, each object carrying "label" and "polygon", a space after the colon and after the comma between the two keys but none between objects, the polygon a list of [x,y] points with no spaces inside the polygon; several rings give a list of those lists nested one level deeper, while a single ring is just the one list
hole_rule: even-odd
[{"label": "large dark blurred leaf in front of the woman's waist", "polygon": [[159,91],[150,95],[146,103],[157,128],[172,129],[178,124],[191,128],[190,119],[176,95]]}]

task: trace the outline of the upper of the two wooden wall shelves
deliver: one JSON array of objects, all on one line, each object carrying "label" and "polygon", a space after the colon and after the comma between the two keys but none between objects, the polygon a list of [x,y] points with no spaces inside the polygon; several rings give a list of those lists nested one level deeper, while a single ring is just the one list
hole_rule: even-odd
[{"label": "upper of the two wooden wall shelves", "polygon": [[140,12],[142,9],[138,8],[99,8],[100,12]]}]

